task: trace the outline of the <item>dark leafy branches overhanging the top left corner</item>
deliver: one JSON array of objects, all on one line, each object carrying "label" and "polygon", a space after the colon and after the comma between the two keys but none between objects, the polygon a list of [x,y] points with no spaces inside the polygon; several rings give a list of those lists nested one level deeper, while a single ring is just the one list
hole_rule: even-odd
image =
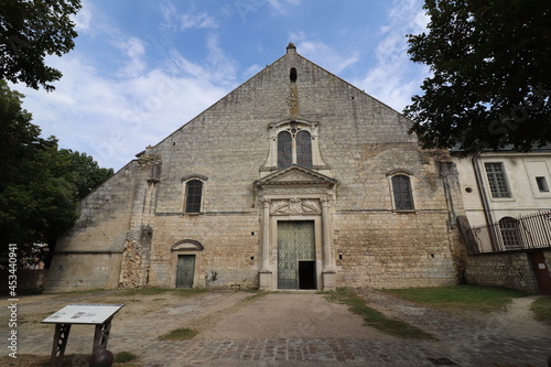
[{"label": "dark leafy branches overhanging the top left corner", "polygon": [[79,0],[0,0],[0,79],[55,89],[48,83],[62,73],[44,58],[73,50],[77,33],[69,17],[78,10]]}]

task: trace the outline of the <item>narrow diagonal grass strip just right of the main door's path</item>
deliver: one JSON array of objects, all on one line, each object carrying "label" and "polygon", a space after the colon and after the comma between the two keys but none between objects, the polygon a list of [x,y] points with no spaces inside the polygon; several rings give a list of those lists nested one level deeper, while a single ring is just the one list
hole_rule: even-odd
[{"label": "narrow diagonal grass strip just right of the main door's path", "polygon": [[408,339],[436,339],[421,328],[398,319],[389,319],[381,312],[369,307],[366,301],[346,288],[325,295],[328,301],[344,303],[348,310],[364,317],[364,325],[377,328],[380,332]]}]

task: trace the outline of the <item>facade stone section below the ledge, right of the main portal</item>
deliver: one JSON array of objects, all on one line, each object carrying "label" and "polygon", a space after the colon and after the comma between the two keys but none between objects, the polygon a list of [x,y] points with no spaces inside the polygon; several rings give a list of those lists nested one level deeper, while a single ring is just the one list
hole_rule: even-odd
[{"label": "facade stone section below the ledge, right of the main portal", "polygon": [[[335,215],[338,287],[408,288],[457,283],[446,213]],[[423,230],[420,230],[423,228]]]}]

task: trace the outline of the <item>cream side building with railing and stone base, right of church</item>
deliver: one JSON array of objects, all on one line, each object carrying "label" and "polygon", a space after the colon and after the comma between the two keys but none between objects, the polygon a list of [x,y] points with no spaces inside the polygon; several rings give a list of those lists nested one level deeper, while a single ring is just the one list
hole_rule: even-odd
[{"label": "cream side building with railing and stone base, right of church", "polygon": [[551,294],[551,147],[452,155],[468,220],[466,280]]}]

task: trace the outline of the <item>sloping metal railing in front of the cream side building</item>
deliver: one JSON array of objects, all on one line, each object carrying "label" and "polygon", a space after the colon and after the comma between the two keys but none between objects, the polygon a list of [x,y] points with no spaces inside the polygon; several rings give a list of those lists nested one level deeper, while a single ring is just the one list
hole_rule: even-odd
[{"label": "sloping metal railing in front of the cream side building", "polygon": [[500,220],[465,231],[469,253],[551,247],[551,211]]}]

